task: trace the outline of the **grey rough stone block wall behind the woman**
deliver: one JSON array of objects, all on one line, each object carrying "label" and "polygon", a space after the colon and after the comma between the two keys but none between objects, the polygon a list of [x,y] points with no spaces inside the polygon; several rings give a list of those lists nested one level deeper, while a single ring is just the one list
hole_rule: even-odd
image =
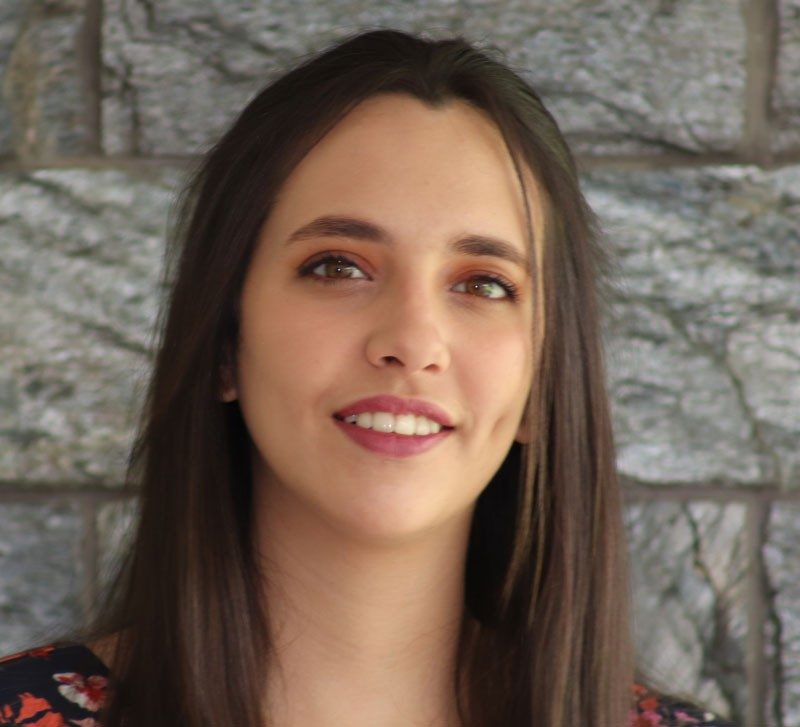
[{"label": "grey rough stone block wall behind the woman", "polygon": [[499,47],[568,134],[618,267],[641,662],[800,725],[800,0],[2,0],[0,652],[83,618],[124,543],[187,165],[375,26]]}]

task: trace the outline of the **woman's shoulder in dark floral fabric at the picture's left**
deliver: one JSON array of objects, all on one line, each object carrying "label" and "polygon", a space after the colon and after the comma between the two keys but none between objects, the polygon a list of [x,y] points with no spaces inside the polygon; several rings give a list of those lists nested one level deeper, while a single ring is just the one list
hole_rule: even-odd
[{"label": "woman's shoulder in dark floral fabric at the picture's left", "polygon": [[94,716],[108,679],[103,662],[80,644],[53,644],[2,657],[0,725],[100,727]]}]

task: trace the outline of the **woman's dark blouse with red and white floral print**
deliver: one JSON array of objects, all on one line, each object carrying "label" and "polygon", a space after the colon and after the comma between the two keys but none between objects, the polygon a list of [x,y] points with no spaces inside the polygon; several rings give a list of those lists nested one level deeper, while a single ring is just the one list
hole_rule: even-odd
[{"label": "woman's dark blouse with red and white floral print", "polygon": [[[50,645],[0,659],[0,725],[102,727],[97,715],[109,670],[80,644]],[[628,727],[733,727],[709,712],[634,687]]]}]

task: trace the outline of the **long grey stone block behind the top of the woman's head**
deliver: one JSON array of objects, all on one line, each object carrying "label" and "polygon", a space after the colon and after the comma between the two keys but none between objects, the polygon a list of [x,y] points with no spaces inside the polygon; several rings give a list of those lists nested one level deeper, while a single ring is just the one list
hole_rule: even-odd
[{"label": "long grey stone block behind the top of the woman's head", "polygon": [[301,55],[388,25],[500,47],[579,151],[728,150],[743,124],[742,22],[734,2],[281,0],[253,8],[237,0],[223,13],[199,1],[111,0],[104,145],[109,153],[200,151]]}]

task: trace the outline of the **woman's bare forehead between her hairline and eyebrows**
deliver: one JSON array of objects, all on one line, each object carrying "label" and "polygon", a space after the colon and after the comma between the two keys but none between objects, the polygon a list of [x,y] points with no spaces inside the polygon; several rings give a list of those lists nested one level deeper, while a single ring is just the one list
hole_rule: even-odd
[{"label": "woman's bare forehead between her hairline and eyebrows", "polygon": [[[525,170],[531,214],[535,182]],[[362,215],[398,235],[455,227],[527,240],[522,189],[501,132],[463,101],[384,94],[354,108],[289,175],[273,231],[319,214]]]}]

